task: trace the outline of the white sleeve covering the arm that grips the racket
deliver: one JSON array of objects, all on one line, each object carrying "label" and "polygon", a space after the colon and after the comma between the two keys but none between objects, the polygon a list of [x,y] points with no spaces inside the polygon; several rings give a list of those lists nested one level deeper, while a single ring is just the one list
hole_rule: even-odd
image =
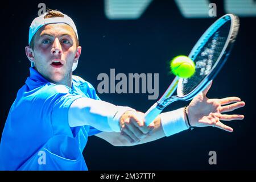
[{"label": "white sleeve covering the arm that grips the racket", "polygon": [[119,131],[119,118],[127,110],[133,109],[82,97],[69,107],[68,122],[70,127],[89,125],[101,131]]}]

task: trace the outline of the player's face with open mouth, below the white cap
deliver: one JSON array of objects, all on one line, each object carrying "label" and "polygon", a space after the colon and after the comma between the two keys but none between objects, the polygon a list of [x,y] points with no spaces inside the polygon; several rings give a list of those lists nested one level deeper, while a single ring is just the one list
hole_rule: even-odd
[{"label": "player's face with open mouth, below the white cap", "polygon": [[65,23],[48,24],[36,33],[34,39],[36,70],[47,80],[67,84],[71,80],[72,65],[79,59],[81,47],[76,45],[72,27]]}]

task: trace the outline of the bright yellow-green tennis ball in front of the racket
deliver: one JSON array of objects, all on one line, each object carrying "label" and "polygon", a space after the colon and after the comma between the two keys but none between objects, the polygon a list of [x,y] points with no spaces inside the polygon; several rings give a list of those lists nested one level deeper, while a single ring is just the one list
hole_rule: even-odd
[{"label": "bright yellow-green tennis ball in front of the racket", "polygon": [[189,78],[195,73],[196,67],[188,56],[176,56],[171,60],[171,71],[180,78]]}]

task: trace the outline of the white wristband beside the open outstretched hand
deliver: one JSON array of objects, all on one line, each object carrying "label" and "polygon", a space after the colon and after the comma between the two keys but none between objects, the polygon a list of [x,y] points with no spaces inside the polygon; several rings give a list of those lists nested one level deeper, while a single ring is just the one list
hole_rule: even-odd
[{"label": "white wristband beside the open outstretched hand", "polygon": [[188,129],[184,118],[184,108],[160,114],[161,123],[166,137]]}]

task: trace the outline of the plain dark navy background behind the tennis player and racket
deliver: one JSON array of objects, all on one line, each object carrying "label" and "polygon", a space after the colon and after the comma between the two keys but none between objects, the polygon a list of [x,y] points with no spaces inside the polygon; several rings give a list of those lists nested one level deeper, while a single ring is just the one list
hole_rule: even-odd
[{"label": "plain dark navy background behind the tennis player and racket", "polygon": [[[28,27],[37,16],[38,3],[30,1],[1,6],[1,133],[16,92],[29,76],[25,55]],[[153,1],[137,20],[109,20],[103,1],[43,1],[75,21],[82,55],[75,75],[95,88],[100,73],[159,73],[159,95],[174,76],[168,74],[168,61],[188,55],[201,34],[221,15],[223,2],[217,3],[217,18],[186,19],[174,1]],[[241,97],[246,106],[232,113],[244,114],[243,121],[225,122],[233,127],[227,133],[213,127],[183,131],[168,138],[134,147],[114,147],[90,137],[84,150],[90,170],[187,170],[256,169],[255,134],[255,42],[256,18],[241,18],[237,42],[229,60],[213,82],[210,98]],[[99,94],[104,101],[146,111],[154,104],[148,94]],[[177,102],[167,110],[185,106]],[[217,152],[217,165],[208,164],[208,152]]]}]

